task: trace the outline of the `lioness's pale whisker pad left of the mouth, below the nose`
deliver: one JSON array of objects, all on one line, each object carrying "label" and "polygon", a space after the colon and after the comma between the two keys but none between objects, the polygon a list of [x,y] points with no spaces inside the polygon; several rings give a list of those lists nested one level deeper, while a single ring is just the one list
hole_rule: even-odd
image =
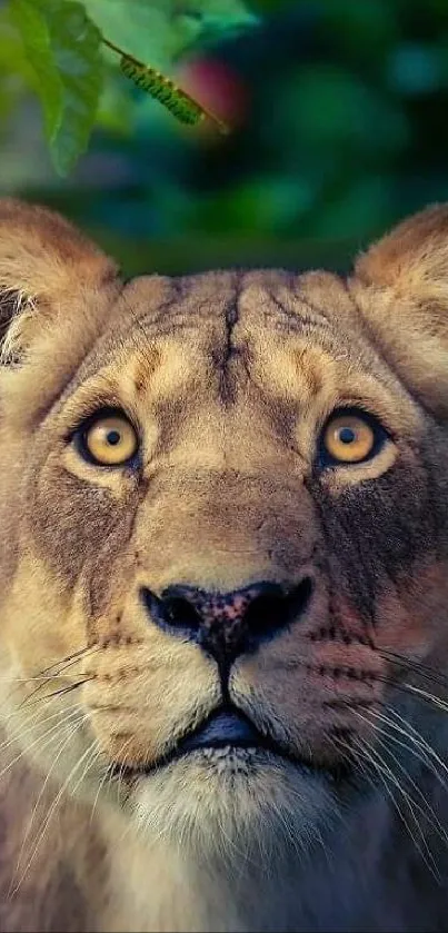
[{"label": "lioness's pale whisker pad left of the mouth, below the nose", "polygon": [[193,645],[156,633],[103,641],[86,662],[83,703],[110,761],[150,767],[219,703],[216,667]]}]

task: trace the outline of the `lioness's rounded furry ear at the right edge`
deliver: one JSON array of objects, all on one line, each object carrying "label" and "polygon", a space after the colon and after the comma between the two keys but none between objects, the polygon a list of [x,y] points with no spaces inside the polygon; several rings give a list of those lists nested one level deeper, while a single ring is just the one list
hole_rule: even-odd
[{"label": "lioness's rounded furry ear at the right edge", "polygon": [[448,417],[448,205],[405,220],[359,257],[350,290],[384,356]]}]

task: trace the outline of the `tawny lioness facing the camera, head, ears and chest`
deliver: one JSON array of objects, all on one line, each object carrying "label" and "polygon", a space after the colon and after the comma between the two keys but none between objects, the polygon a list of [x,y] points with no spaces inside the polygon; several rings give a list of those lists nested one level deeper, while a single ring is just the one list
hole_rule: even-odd
[{"label": "tawny lioness facing the camera, head, ears and chest", "polygon": [[448,930],[448,207],[123,284],[0,206],[2,931]]}]

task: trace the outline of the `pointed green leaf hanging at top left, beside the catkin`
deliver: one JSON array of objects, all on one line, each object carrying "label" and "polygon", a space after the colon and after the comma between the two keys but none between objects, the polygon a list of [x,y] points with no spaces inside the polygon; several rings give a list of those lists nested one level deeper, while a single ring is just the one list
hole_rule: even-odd
[{"label": "pointed green leaf hanging at top left, beside the catkin", "polygon": [[67,175],[86,150],[102,83],[100,32],[73,0],[10,0],[42,102],[52,160]]}]

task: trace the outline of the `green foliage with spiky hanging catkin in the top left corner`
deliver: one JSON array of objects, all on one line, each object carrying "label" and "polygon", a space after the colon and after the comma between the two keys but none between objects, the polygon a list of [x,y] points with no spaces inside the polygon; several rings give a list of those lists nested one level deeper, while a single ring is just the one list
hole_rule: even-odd
[{"label": "green foliage with spiky hanging catkin in the top left corner", "polygon": [[10,0],[10,12],[32,69],[31,83],[42,103],[51,156],[61,175],[86,150],[96,121],[103,83],[101,43],[119,53],[121,71],[135,85],[178,120],[193,126],[203,119],[205,109],[152,63],[147,64],[148,58],[168,67],[199,38],[257,21],[241,0]]}]

